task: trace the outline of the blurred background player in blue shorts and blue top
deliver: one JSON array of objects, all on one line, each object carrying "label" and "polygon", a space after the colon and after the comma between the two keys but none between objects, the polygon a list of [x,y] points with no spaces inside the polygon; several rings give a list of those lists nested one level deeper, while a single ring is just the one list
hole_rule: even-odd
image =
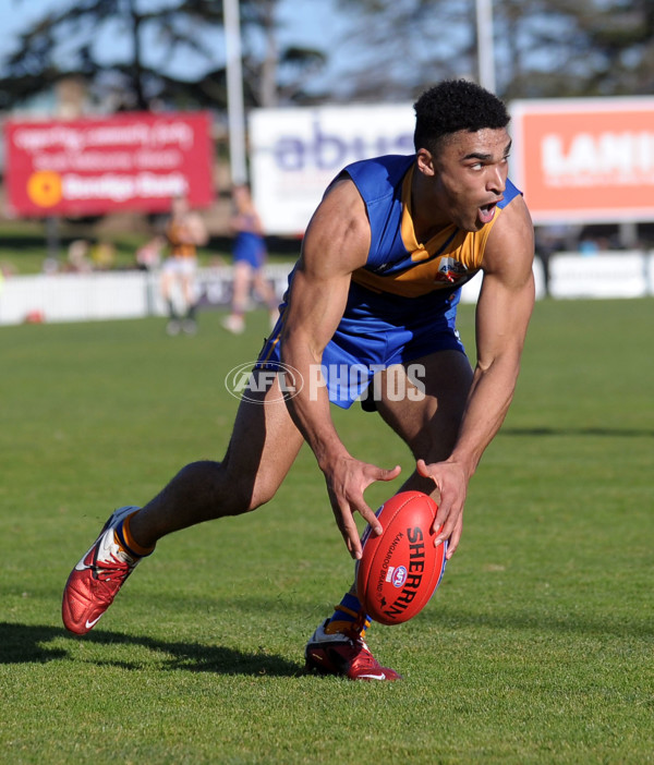
[{"label": "blurred background player in blue shorts and blue top", "polygon": [[250,189],[245,185],[234,186],[232,191],[234,214],[230,226],[234,233],[232,255],[234,259],[234,281],[231,313],[222,326],[234,335],[245,329],[245,311],[250,300],[250,290],[266,303],[270,312],[270,327],[277,321],[278,300],[270,282],[264,277],[266,263],[266,242],[264,228],[256,211]]}]

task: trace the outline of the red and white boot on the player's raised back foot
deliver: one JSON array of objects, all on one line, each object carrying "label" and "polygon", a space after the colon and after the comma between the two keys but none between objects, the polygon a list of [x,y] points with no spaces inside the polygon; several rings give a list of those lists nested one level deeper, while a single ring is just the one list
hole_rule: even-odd
[{"label": "red and white boot on the player's raised back foot", "polygon": [[63,590],[61,616],[66,630],[83,635],[112,604],[118,591],[141,560],[120,543],[117,526],[140,508],[119,508],[72,570]]}]

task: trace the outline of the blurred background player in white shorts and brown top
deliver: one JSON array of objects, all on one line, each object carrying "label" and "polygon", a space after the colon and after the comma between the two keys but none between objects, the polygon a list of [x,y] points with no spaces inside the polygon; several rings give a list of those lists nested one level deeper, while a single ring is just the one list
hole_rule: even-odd
[{"label": "blurred background player in white shorts and brown top", "polygon": [[170,316],[167,332],[193,333],[197,329],[197,247],[207,243],[208,235],[203,219],[191,210],[183,196],[172,201],[166,238],[170,254],[161,270],[161,293]]}]

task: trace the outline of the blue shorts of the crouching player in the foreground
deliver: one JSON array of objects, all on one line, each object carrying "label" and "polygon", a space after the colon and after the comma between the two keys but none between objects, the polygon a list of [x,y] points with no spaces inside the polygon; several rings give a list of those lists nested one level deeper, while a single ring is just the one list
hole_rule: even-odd
[{"label": "blue shorts of the crouching player in the foreground", "polygon": [[[310,384],[327,388],[329,401],[349,409],[367,398],[377,372],[393,364],[410,364],[438,351],[465,350],[456,329],[460,290],[421,298],[378,294],[352,283],[343,317],[323,353],[319,373]],[[283,368],[280,336],[286,303],[270,337],[264,343],[255,368]],[[307,381],[304,380],[304,384]],[[373,410],[374,403],[364,409]]]}]

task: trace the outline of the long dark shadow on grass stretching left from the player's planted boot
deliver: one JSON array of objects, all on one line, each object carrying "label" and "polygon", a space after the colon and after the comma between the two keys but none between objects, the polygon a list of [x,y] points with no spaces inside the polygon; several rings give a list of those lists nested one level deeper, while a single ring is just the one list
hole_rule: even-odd
[{"label": "long dark shadow on grass stretching left from the player's planted boot", "polygon": [[[93,632],[84,638],[73,638],[63,628],[0,622],[0,664],[46,664],[70,658],[71,654],[61,643],[49,645],[61,638],[81,640],[95,645],[132,645],[145,647],[160,654],[155,659],[165,670],[186,669],[190,672],[215,672],[217,675],[253,675],[296,677],[303,667],[291,664],[280,656],[246,653],[222,646],[201,643],[175,643],[117,632]],[[143,669],[147,661],[99,660],[98,665],[110,665],[125,669]]]}]

